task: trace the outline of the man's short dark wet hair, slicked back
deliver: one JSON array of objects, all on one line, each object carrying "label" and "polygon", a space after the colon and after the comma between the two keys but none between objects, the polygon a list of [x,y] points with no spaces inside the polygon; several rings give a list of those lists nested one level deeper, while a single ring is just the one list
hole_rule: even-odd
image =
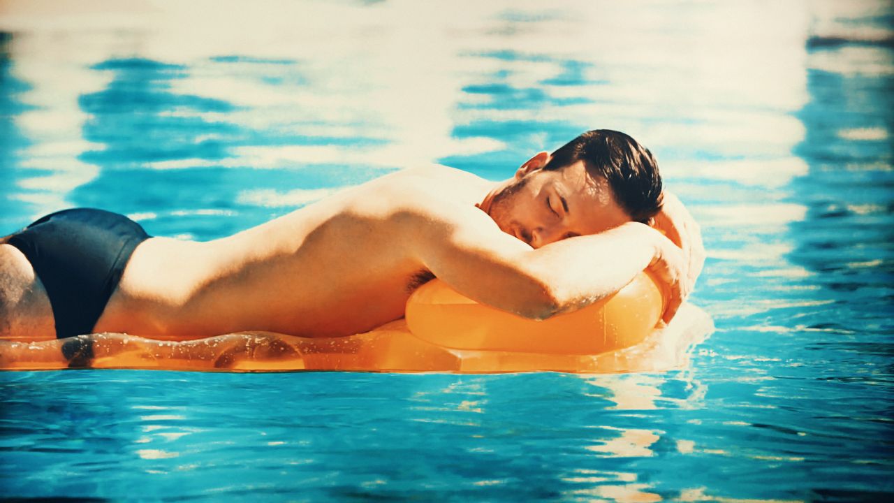
[{"label": "man's short dark wet hair, slicked back", "polygon": [[649,149],[623,132],[585,132],[552,152],[544,170],[561,169],[583,160],[591,176],[608,181],[615,200],[630,218],[648,223],[662,208],[662,176]]}]

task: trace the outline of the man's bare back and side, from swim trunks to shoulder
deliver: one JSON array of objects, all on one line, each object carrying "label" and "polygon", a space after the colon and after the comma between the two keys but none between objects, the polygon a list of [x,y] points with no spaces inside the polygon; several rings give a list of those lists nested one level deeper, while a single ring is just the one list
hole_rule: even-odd
[{"label": "man's bare back and side, from swim trunks to shoulder", "polygon": [[95,330],[198,337],[375,328],[401,318],[412,289],[430,277],[408,234],[426,221],[493,225],[475,208],[492,184],[443,166],[411,169],[212,242],[151,239]]}]

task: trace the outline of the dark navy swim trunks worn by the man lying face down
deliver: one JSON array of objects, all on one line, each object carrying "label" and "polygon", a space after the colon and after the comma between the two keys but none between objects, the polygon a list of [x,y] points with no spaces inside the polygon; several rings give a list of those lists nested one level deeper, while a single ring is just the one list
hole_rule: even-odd
[{"label": "dark navy swim trunks worn by the man lying face down", "polygon": [[124,267],[149,234],[102,209],[65,209],[40,218],[9,244],[31,262],[53,306],[56,337],[89,334]]}]

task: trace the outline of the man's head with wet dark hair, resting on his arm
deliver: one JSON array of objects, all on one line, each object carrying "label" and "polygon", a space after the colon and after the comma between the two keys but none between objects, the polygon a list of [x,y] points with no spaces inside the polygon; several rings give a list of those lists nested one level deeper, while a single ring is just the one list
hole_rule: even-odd
[{"label": "man's head with wet dark hair, resting on his arm", "polygon": [[652,152],[623,132],[585,132],[519,167],[481,203],[503,232],[539,248],[661,209],[662,178]]}]

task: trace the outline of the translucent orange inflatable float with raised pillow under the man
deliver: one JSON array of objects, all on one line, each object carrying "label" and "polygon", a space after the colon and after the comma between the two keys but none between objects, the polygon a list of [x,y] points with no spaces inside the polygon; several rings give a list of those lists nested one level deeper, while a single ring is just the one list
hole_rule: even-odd
[{"label": "translucent orange inflatable float with raised pillow under the man", "polygon": [[409,298],[406,319],[364,334],[245,332],[184,341],[93,334],[0,341],[0,369],[623,371],[625,352],[655,332],[662,312],[662,288],[645,273],[599,303],[543,321],[475,303],[435,279]]}]

